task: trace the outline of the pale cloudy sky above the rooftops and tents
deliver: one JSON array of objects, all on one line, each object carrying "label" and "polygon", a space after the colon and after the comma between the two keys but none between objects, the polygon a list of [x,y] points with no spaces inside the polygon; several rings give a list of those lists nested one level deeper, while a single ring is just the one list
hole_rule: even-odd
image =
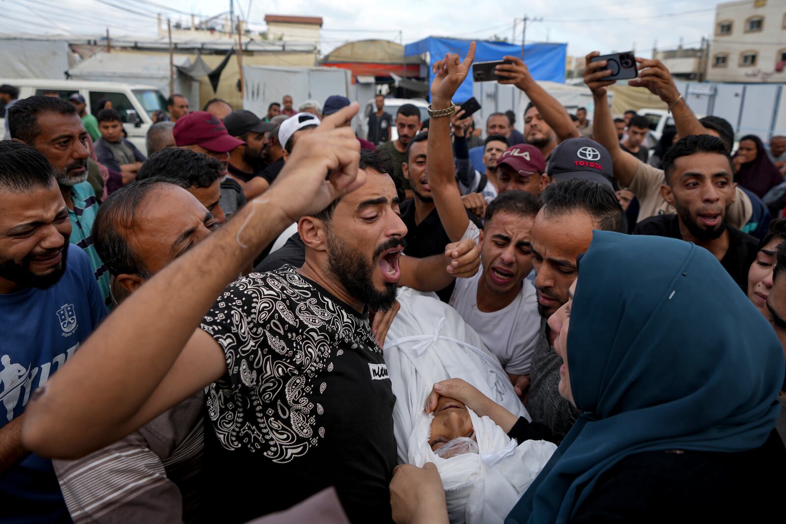
[{"label": "pale cloudy sky above the rooftops and tents", "polygon": [[[325,54],[351,40],[398,41],[399,31],[404,43],[428,35],[512,38],[514,18],[527,14],[542,18],[527,24],[527,42],[567,42],[572,56],[635,46],[637,54],[648,57],[654,42],[659,49],[674,49],[680,38],[685,46],[698,46],[702,35],[711,35],[716,4],[716,0],[251,0],[248,20],[252,29],[263,31],[266,14],[321,16],[321,53]],[[67,31],[100,35],[106,27],[117,36],[155,35],[156,13],[189,23],[189,16],[177,11],[215,15],[229,5],[230,0],[0,0],[0,35]],[[249,0],[236,0],[235,12],[242,9],[245,16],[248,6]],[[519,22],[516,42],[520,38]]]}]

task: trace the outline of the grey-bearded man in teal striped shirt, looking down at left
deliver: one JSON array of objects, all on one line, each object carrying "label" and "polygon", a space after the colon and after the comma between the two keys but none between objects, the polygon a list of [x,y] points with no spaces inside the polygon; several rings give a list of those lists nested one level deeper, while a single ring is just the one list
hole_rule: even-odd
[{"label": "grey-bearded man in teal striped shirt, looking down at left", "polygon": [[52,165],[68,207],[71,243],[87,253],[107,307],[109,273],[93,247],[90,230],[98,211],[93,186],[87,182],[87,131],[73,104],[60,98],[29,97],[14,104],[7,115],[11,138],[31,145]]}]

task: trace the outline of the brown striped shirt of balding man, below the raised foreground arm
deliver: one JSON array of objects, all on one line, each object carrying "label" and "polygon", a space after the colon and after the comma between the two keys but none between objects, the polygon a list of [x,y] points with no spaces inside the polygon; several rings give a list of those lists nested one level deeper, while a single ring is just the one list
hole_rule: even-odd
[{"label": "brown striped shirt of balding man, below the raised foreground arm", "polygon": [[126,438],[78,460],[53,460],[75,524],[199,522],[202,391]]}]

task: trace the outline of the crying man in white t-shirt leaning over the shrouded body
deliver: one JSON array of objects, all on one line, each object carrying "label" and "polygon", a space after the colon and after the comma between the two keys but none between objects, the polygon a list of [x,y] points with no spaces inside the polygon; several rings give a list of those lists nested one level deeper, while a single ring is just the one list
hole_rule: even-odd
[{"label": "crying man in white t-shirt leaning over the shrouded body", "polygon": [[532,224],[540,207],[529,192],[507,191],[494,199],[480,233],[480,270],[457,281],[450,297],[450,305],[496,355],[519,395],[529,384],[540,331],[538,297],[525,280],[532,270]]}]

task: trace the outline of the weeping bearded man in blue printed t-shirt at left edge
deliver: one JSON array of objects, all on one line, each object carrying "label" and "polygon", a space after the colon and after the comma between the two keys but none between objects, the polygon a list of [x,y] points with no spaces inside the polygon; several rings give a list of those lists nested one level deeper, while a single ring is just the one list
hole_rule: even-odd
[{"label": "weeping bearded man in blue printed t-shirt at left edge", "polygon": [[2,522],[71,522],[52,463],[20,431],[33,390],[106,316],[90,261],[69,244],[71,222],[52,167],[0,142],[0,507]]}]

